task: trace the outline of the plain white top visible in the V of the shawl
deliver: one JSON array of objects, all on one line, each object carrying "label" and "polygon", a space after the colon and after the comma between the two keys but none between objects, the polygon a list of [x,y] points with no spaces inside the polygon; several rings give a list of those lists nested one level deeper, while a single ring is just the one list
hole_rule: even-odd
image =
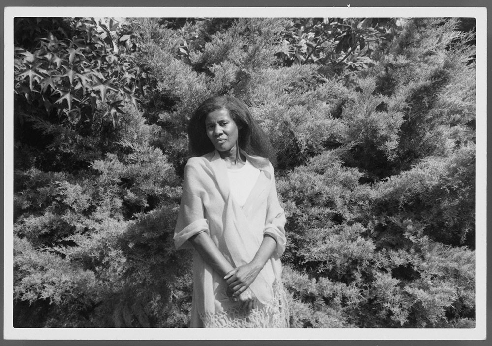
[{"label": "plain white top visible in the V of the shawl", "polygon": [[227,169],[227,175],[232,197],[241,207],[244,206],[258,180],[260,170],[246,160],[246,164],[239,169]]}]

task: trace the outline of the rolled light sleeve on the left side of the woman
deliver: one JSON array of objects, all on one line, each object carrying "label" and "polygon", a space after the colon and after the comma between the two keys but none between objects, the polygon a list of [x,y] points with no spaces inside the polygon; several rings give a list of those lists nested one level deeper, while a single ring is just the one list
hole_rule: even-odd
[{"label": "rolled light sleeve on the left side of the woman", "polygon": [[209,233],[208,220],[204,218],[200,184],[195,167],[186,164],[184,168],[183,194],[181,195],[178,220],[174,230],[176,249],[193,249],[188,239],[200,232]]}]

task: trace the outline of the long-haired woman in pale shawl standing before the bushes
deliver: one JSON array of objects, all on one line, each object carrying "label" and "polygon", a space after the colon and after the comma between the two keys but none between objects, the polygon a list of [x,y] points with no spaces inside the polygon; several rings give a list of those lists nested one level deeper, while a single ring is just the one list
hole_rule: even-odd
[{"label": "long-haired woman in pale shawl standing before the bushes", "polygon": [[190,327],[288,327],[280,256],[285,214],[272,147],[244,103],[218,96],[188,124],[174,241],[194,248]]}]

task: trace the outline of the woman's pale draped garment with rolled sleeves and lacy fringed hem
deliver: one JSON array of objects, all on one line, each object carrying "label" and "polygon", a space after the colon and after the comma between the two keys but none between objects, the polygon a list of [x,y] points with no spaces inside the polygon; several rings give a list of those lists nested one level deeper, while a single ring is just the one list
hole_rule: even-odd
[{"label": "woman's pale draped garment with rolled sleeves and lacy fringed hem", "polygon": [[177,249],[193,248],[188,239],[207,232],[224,257],[238,267],[253,259],[264,235],[273,237],[276,250],[250,285],[262,308],[241,311],[227,297],[225,280],[194,251],[191,327],[287,326],[279,259],[286,244],[285,214],[278,202],[274,170],[267,159],[242,153],[260,170],[243,207],[230,193],[227,167],[218,151],[188,160],[174,241]]}]

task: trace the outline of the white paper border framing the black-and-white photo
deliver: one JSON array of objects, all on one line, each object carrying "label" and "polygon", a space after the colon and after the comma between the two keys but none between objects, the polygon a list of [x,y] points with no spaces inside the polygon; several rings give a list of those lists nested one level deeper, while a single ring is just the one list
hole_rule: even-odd
[{"label": "white paper border framing the black-and-white photo", "polygon": [[[13,327],[14,17],[473,17],[476,79],[476,327],[471,329],[181,329]],[[4,339],[17,340],[483,340],[486,338],[487,16],[482,7],[5,7]],[[259,338],[258,338],[259,336]]]}]

